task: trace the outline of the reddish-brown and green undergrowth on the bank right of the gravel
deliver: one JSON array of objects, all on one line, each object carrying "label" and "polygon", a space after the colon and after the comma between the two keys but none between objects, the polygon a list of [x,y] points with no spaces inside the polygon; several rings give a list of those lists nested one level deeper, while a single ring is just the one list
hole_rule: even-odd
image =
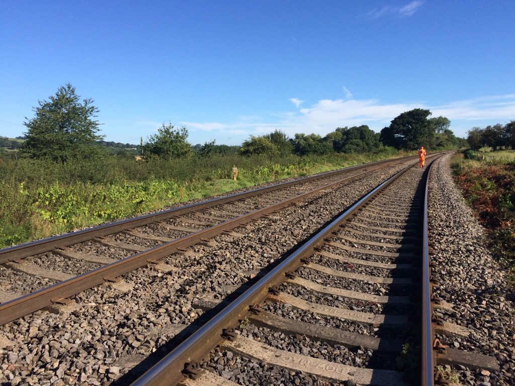
[{"label": "reddish-brown and green undergrowth on the bank right of the gravel", "polygon": [[455,181],[487,232],[488,247],[515,284],[515,151],[455,155]]}]

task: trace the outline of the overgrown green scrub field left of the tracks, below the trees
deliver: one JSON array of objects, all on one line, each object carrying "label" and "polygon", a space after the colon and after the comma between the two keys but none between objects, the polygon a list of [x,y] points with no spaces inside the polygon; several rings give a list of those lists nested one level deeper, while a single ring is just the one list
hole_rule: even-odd
[{"label": "overgrown green scrub field left of the tracks, below the trees", "polygon": [[[403,155],[385,148],[373,154],[302,157],[0,161],[0,248],[237,188]],[[233,165],[239,169],[236,182]]]}]

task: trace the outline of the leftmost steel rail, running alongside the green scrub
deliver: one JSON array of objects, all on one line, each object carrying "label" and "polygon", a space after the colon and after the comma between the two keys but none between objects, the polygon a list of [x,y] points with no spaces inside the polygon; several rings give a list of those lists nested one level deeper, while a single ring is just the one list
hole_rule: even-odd
[{"label": "leftmost steel rail, running alongside the green scrub", "polygon": [[202,201],[194,204],[183,205],[177,208],[171,208],[162,210],[157,213],[150,213],[147,215],[132,217],[125,220],[115,221],[108,224],[102,224],[93,226],[88,229],[84,229],[77,232],[65,233],[58,236],[48,237],[42,240],[30,241],[20,245],[14,245],[0,250],[0,264],[5,264],[9,261],[19,261],[25,257],[37,255],[39,253],[49,252],[56,248],[68,247],[69,245],[76,244],[78,242],[92,240],[95,237],[102,237],[111,235],[117,232],[123,232],[128,229],[133,229],[138,226],[146,225],[156,221],[162,221],[174,216],[180,216],[186,213],[191,213],[195,210],[201,210],[204,208],[212,207],[215,205],[224,204],[235,200],[240,200],[246,197],[256,196],[263,192],[274,191],[289,186],[298,185],[304,182],[318,180],[324,177],[332,176],[347,171],[352,171],[359,168],[370,167],[388,163],[398,163],[406,159],[412,158],[412,156],[401,157],[393,160],[376,161],[368,164],[351,166],[344,169],[338,169],[329,171],[316,176],[304,177],[295,181],[282,182],[277,185],[265,186],[257,189],[252,189],[240,193],[235,193],[229,196],[218,197],[207,201]]}]

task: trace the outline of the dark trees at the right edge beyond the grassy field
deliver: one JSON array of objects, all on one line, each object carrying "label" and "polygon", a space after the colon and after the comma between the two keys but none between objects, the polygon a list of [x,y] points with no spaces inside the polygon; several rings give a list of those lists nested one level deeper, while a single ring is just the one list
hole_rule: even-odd
[{"label": "dark trees at the right edge beyond the grassy field", "polygon": [[503,148],[515,150],[515,120],[506,125],[474,127],[468,131],[467,142],[472,150],[485,146],[491,147],[493,151]]}]

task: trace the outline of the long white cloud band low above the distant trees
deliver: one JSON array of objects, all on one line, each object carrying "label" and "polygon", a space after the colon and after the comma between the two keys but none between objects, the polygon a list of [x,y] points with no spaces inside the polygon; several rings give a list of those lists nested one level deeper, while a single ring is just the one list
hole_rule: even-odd
[{"label": "long white cloud band low above the distant trees", "polygon": [[[300,106],[300,103],[294,104],[296,107]],[[371,129],[380,131],[394,117],[415,108],[430,109],[434,117],[448,117],[452,121],[451,128],[458,135],[465,135],[470,127],[483,125],[482,121],[502,123],[515,118],[515,94],[485,96],[437,105],[422,102],[383,103],[379,99],[322,99],[310,107],[261,118],[237,118],[228,123],[184,121],[180,124],[192,130],[210,131],[213,134],[259,135],[277,128],[290,136],[300,132],[325,135],[337,127],[355,125],[368,125]]]}]

